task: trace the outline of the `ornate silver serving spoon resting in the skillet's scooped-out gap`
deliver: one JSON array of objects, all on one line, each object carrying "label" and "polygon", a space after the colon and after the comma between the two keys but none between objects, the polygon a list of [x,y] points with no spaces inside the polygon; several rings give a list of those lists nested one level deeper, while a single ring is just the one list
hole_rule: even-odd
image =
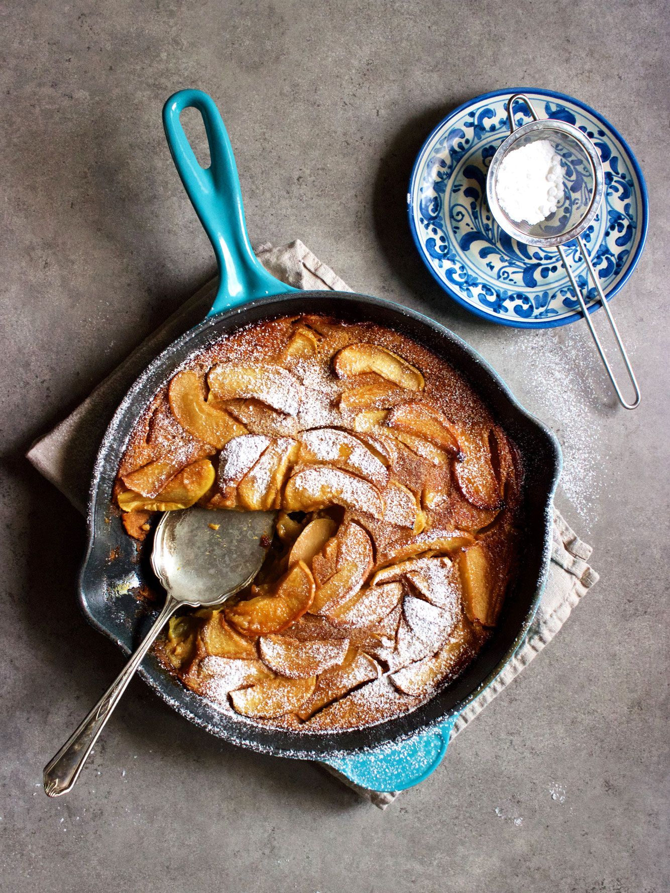
[{"label": "ornate silver serving spoon resting in the skillet's scooped-out gap", "polygon": [[276,512],[211,511],[198,505],[166,512],[156,527],[151,563],[166,589],[165,605],[119,676],[45,765],[49,797],[71,790],[128,682],[178,608],[220,605],[250,583],[272,538]]}]

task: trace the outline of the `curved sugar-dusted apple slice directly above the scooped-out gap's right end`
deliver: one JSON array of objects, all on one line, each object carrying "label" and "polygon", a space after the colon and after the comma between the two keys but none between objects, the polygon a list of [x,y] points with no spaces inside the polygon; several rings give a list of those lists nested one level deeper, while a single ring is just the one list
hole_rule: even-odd
[{"label": "curved sugar-dusted apple slice directly above the scooped-out gap's right end", "polygon": [[328,505],[359,509],[376,518],[384,513],[384,500],[374,484],[328,465],[314,465],[289,478],[284,508],[289,512],[315,512]]}]

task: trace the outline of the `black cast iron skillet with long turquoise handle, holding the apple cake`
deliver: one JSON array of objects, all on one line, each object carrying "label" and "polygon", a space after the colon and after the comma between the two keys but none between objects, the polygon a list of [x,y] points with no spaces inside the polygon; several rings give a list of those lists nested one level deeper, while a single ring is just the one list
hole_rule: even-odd
[{"label": "black cast iron skillet with long turquoise handle, holding the apple cake", "polygon": [[[196,161],[179,123],[179,114],[189,106],[203,115],[211,152],[207,170]],[[519,646],[533,620],[550,560],[552,500],[561,466],[558,442],[550,430],[518,405],[504,382],[471,347],[437,322],[378,298],[346,292],[303,292],[271,277],[253,255],[244,225],[235,159],[211,98],[196,90],[171,96],[163,110],[163,123],[186,192],[214,246],[219,292],[207,319],[173,342],[136,380],[104,435],[91,486],[89,540],[79,586],[83,609],[98,630],[128,651],[147,622],[128,589],[149,580],[151,571],[148,563],[145,566],[143,561],[138,562],[134,541],[110,511],[114,478],[136,419],[180,363],[239,326],[309,312],[347,321],[375,321],[399,331],[443,357],[469,380],[523,456],[525,552],[499,625],[465,672],[412,713],[363,730],[270,730],[221,713],[173,679],[151,655],[140,669],[152,688],[180,714],[222,739],[261,752],[332,760],[334,764],[352,755],[363,758],[361,752],[368,748],[407,739],[457,716],[500,673]],[[118,557],[110,561],[110,555]]]}]

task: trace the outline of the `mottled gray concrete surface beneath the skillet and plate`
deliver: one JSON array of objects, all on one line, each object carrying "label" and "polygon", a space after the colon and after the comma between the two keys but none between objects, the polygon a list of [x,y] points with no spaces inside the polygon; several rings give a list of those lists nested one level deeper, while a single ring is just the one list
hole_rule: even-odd
[{"label": "mottled gray concrete surface beneath the skillet and plate", "polygon": [[[668,889],[663,0],[23,0],[2,24],[0,889]],[[647,248],[614,302],[643,390],[636,413],[613,408],[579,352],[581,324],[484,325],[411,246],[404,193],[426,133],[467,97],[516,85],[600,109],[647,178]],[[40,789],[121,658],[76,603],[83,522],[21,457],[211,271],[161,130],[164,99],[184,86],[224,114],[252,239],[302,238],[353,287],[434,314],[568,441],[559,504],[601,581],[385,813],[309,764],[222,744],[140,682],[70,797]],[[579,392],[575,413],[564,386]]]}]

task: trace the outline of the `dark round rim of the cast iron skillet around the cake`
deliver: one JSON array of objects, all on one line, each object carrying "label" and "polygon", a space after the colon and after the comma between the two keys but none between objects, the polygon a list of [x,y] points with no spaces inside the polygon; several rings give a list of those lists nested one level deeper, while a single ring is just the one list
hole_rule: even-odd
[{"label": "dark round rim of the cast iron skillet around the cake", "polygon": [[[115,445],[115,435],[118,433],[118,429],[121,427],[122,422],[127,420],[128,414],[133,410],[137,397],[142,397],[143,407],[146,405],[147,396],[145,396],[145,388],[147,388],[148,385],[151,385],[150,393],[155,393],[155,391],[160,388],[172,374],[174,374],[179,365],[186,361],[186,356],[192,355],[195,350],[203,349],[207,343],[217,340],[224,331],[235,329],[238,326],[244,326],[255,321],[260,321],[261,319],[272,319],[279,316],[291,315],[292,311],[287,309],[285,305],[295,302],[304,304],[306,301],[316,303],[317,305],[321,304],[323,306],[320,308],[303,306],[301,309],[295,308],[294,312],[322,312],[331,315],[339,314],[339,316],[345,320],[349,318],[358,319],[359,321],[372,321],[393,328],[391,323],[374,318],[374,310],[376,309],[377,312],[381,312],[380,315],[384,316],[385,314],[390,314],[395,317],[396,320],[400,321],[401,330],[402,322],[408,321],[409,328],[412,328],[413,330],[405,332],[405,334],[407,334],[409,338],[414,338],[428,349],[433,350],[438,355],[441,355],[446,362],[451,363],[456,371],[468,380],[490,409],[493,410],[494,408],[492,406],[492,403],[494,402],[492,397],[495,397],[497,392],[498,398],[500,399],[501,397],[503,404],[507,404],[507,411],[512,418],[516,416],[521,428],[525,429],[526,433],[534,431],[535,438],[538,439],[540,445],[544,447],[544,465],[546,470],[548,470],[548,477],[543,481],[542,499],[540,501],[540,505],[542,506],[542,538],[539,537],[541,530],[537,531],[535,537],[537,543],[535,551],[537,552],[538,550],[541,550],[541,554],[539,555],[538,572],[534,577],[534,592],[532,594],[527,593],[525,596],[528,603],[527,610],[518,624],[517,631],[514,633],[511,641],[509,641],[509,645],[504,648],[502,655],[495,661],[494,665],[489,667],[488,672],[484,673],[483,678],[479,679],[471,688],[468,688],[467,685],[464,687],[464,677],[467,678],[472,675],[477,675],[473,672],[474,669],[479,667],[480,664],[486,666],[486,663],[491,663],[490,659],[488,662],[483,659],[484,655],[488,655],[488,657],[491,658],[491,647],[489,643],[487,643],[487,646],[484,647],[483,651],[476,655],[476,658],[467,665],[464,672],[462,672],[456,680],[452,683],[447,683],[443,688],[438,689],[433,697],[408,714],[403,714],[391,720],[367,726],[360,730],[295,732],[269,729],[263,726],[254,725],[251,722],[245,722],[236,718],[232,719],[230,714],[225,714],[216,710],[206,699],[195,695],[194,692],[191,692],[189,689],[182,686],[178,680],[171,677],[170,674],[161,667],[161,664],[158,663],[153,655],[149,658],[145,658],[145,662],[140,666],[138,671],[140,675],[164,701],[177,710],[179,714],[185,716],[186,719],[209,730],[219,738],[225,739],[233,744],[249,747],[250,749],[261,753],[302,759],[323,759],[326,756],[335,757],[359,754],[368,751],[370,747],[379,747],[384,744],[399,742],[403,739],[410,738],[418,732],[427,731],[438,725],[442,725],[452,716],[461,713],[467,705],[478,697],[482,691],[495,680],[500,672],[502,672],[505,665],[509,662],[525,638],[525,634],[528,631],[530,624],[533,622],[534,614],[542,597],[542,590],[546,582],[550,563],[553,497],[558,485],[562,459],[558,440],[553,432],[551,432],[550,429],[548,429],[547,426],[544,425],[542,421],[539,421],[532,413],[525,410],[525,408],[517,401],[517,398],[513,395],[505,381],[492,369],[492,366],[487,363],[481,355],[477,354],[474,348],[467,345],[462,338],[459,338],[458,335],[447,329],[442,323],[427,317],[424,313],[420,313],[403,305],[397,305],[392,301],[383,298],[358,294],[355,292],[299,291],[285,295],[261,298],[225,313],[207,317],[203,322],[194,326],[194,328],[187,330],[183,335],[171,342],[169,346],[164,348],[161,353],[146,366],[145,371],[137,377],[135,382],[128,389],[120,406],[115,413],[113,413],[112,420],[107,426],[95,460],[88,498],[87,550],[79,575],[79,603],[83,612],[87,616],[88,622],[91,622],[95,629],[102,632],[107,638],[111,638],[112,641],[114,641],[125,653],[128,654],[130,650],[128,643],[124,642],[116,631],[104,625],[104,622],[99,619],[92,604],[90,604],[92,603],[92,599],[88,595],[89,588],[91,591],[95,591],[94,583],[91,581],[91,578],[98,575],[100,571],[103,571],[105,566],[104,560],[100,560],[101,557],[104,558],[104,556],[96,555],[96,541],[98,540],[98,528],[100,528],[100,524],[96,524],[96,521],[99,520],[101,514],[104,516],[106,510],[109,508],[109,497],[105,497],[102,493],[103,486],[106,482],[104,480],[104,472],[107,471],[109,474],[109,461],[113,459],[113,452],[115,449],[117,452],[115,461],[118,463],[129,436],[128,430],[122,445],[119,447],[118,441]],[[332,308],[328,309],[327,305],[329,304],[343,305],[344,312],[342,312],[342,310],[334,312]],[[365,311],[360,310],[361,304],[366,305]],[[267,313],[263,313],[266,307],[269,308],[269,310]],[[367,313],[368,307],[373,308],[373,313]],[[249,319],[250,316],[252,316],[251,320]],[[227,325],[231,321],[233,324]],[[224,324],[223,328],[221,328],[221,323]],[[396,329],[398,328],[397,322],[395,327]],[[426,333],[426,338],[422,338],[417,330]],[[208,339],[206,336],[203,337],[203,333],[209,332],[211,332],[211,339]],[[446,352],[440,351],[439,348],[436,348],[434,344],[431,343],[431,338],[428,336],[432,336],[433,339],[435,339],[436,336],[436,340],[441,343],[444,343],[445,341],[448,342],[451,346],[451,350],[455,350],[457,354],[460,354],[459,359],[463,359],[464,357],[467,358],[467,361],[471,363],[471,368],[467,370],[461,368],[458,360],[455,362],[452,356],[448,355]],[[194,340],[198,343],[187,350],[185,358],[176,361],[174,355],[178,353],[179,350],[184,350],[184,348]],[[479,382],[472,380],[473,371],[478,371],[480,373],[481,380]],[[499,407],[495,409],[494,415],[500,416]],[[509,420],[506,424],[509,425]],[[521,451],[523,455],[524,450],[522,449]],[[116,467],[115,464],[113,477],[115,477]],[[102,506],[100,505],[101,500],[103,501]],[[100,530],[103,530],[103,528],[100,528]],[[95,567],[93,566],[94,564],[96,565]],[[100,588],[100,582],[100,580],[97,581],[98,588]],[[105,599],[105,603],[106,602],[107,599]],[[142,620],[135,622],[131,636],[133,641],[136,640],[138,630],[142,626]],[[498,629],[496,632],[498,632]],[[495,638],[497,637],[494,634],[491,641]],[[481,675],[481,672],[479,675]],[[169,688],[170,685],[172,686],[172,690]],[[467,688],[467,691],[460,690],[464,688]],[[442,710],[438,709],[438,706],[444,699],[445,693],[449,692],[451,689],[458,691],[459,696],[456,697],[455,700],[452,699],[451,705],[446,706]]]}]

